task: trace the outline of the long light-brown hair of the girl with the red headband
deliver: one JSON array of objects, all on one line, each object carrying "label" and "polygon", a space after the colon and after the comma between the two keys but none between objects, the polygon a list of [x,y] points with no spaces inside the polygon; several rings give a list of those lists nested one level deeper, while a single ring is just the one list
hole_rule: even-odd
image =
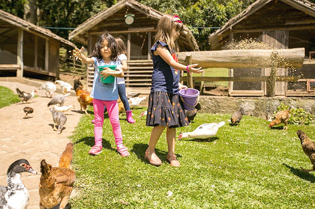
[{"label": "long light-brown hair of the girl with the red headband", "polygon": [[164,15],[160,19],[159,23],[157,23],[156,35],[154,36],[154,42],[161,40],[166,43],[170,50],[174,50],[178,52],[178,44],[177,40],[174,41],[174,37],[172,36],[172,29],[174,28],[177,31],[181,31],[183,29],[183,24],[180,22],[173,21],[174,15]]}]

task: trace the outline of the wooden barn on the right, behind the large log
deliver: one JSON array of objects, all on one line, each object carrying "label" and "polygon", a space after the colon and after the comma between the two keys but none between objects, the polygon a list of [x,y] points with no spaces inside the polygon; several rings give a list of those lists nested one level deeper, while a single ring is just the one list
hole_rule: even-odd
[{"label": "wooden barn on the right, behind the large log", "polygon": [[[276,82],[276,96],[315,96],[315,4],[305,0],[258,0],[209,35],[211,50],[229,41],[256,38],[276,49],[305,48],[301,69],[277,69],[280,75],[301,75],[297,82]],[[234,68],[229,76],[264,76],[270,68]],[[266,82],[229,82],[229,95],[264,96]]]}]

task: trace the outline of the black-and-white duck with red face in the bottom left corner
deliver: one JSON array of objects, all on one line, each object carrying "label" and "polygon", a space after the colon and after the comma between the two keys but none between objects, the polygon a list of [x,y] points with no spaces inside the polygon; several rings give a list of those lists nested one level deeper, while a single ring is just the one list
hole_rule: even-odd
[{"label": "black-and-white duck with red face in the bottom left corner", "polygon": [[29,195],[21,181],[21,173],[37,174],[26,159],[13,162],[7,172],[8,187],[0,186],[0,208],[27,208]]}]

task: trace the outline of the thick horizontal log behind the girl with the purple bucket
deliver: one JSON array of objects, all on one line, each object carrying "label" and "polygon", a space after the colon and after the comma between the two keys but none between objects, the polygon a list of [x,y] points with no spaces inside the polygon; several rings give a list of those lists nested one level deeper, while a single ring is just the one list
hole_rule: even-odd
[{"label": "thick horizontal log behind the girl with the purple bucket", "polygon": [[[304,48],[273,49],[273,50],[219,50],[179,52],[178,61],[186,64],[186,54],[192,55],[192,63],[203,68],[254,68],[272,67],[272,52],[277,53],[278,67],[301,68],[305,56]],[[285,66],[283,66],[285,65]]]}]

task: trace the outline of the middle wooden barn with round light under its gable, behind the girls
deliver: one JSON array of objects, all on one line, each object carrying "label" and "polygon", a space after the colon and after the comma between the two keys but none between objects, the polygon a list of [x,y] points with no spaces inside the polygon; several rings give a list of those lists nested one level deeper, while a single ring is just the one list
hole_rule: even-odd
[{"label": "middle wooden barn with round light under its gable, behind the girls", "polygon": [[[99,35],[105,31],[120,37],[127,47],[128,70],[125,72],[127,87],[151,86],[152,60],[150,48],[157,22],[164,14],[134,0],[122,0],[79,25],[69,34],[69,39],[87,46],[88,54],[93,50]],[[179,36],[180,51],[198,51],[192,32],[184,26]],[[93,82],[94,68],[88,66],[88,87]]]}]

